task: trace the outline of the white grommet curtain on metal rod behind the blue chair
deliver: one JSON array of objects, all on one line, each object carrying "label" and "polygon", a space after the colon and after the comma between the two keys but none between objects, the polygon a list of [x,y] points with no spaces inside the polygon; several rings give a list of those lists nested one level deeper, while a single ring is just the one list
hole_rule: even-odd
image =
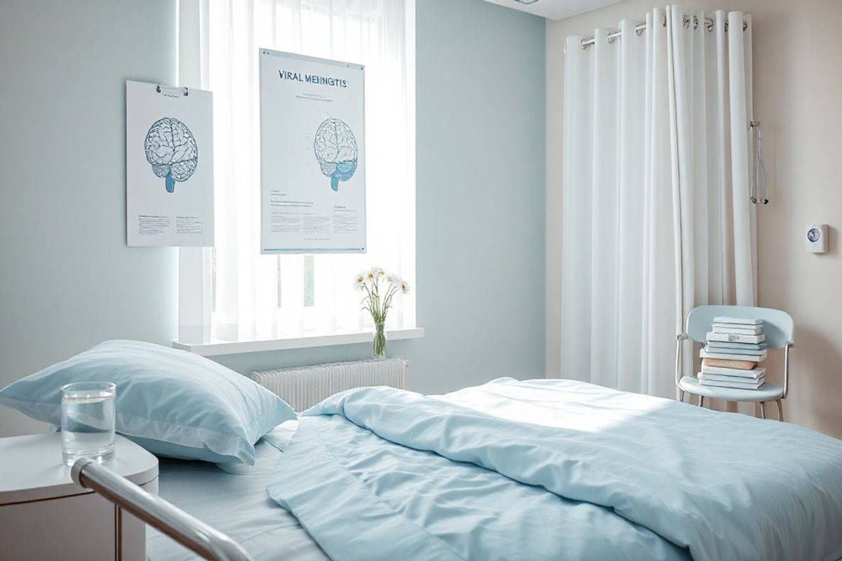
[{"label": "white grommet curtain on metal rod behind the blue chair", "polygon": [[751,20],[640,23],[567,40],[561,375],[666,397],[687,312],[755,300]]}]

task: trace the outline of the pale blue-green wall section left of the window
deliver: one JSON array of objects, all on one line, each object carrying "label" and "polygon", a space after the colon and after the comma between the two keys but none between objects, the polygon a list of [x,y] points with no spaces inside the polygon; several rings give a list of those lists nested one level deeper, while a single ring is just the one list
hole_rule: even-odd
[{"label": "pale blue-green wall section left of the window", "polygon": [[0,387],[176,336],[178,250],[125,246],[125,81],[173,83],[174,51],[175,0],[0,0]]}]

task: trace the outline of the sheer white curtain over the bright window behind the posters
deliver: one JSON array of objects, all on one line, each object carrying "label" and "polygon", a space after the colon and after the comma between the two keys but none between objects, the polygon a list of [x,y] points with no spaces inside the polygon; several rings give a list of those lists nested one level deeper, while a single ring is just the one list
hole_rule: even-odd
[{"label": "sheer white curtain over the bright window behind the posters", "polygon": [[[181,250],[179,338],[359,331],[354,273],[376,264],[413,284],[413,10],[405,0],[180,0],[181,85],[214,94],[216,247]],[[365,65],[367,254],[259,254],[260,47]],[[413,296],[389,320],[414,325]]]}]

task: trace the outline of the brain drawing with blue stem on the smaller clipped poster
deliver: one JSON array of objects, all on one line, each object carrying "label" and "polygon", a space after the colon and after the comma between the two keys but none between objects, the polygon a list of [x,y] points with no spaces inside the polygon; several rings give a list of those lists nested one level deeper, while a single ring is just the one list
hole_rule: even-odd
[{"label": "brain drawing with blue stem on the smaller clipped poster", "polygon": [[175,182],[187,181],[193,175],[199,161],[193,133],[172,117],[158,119],[149,127],[143,148],[152,172],[164,178],[168,193],[175,191]]}]

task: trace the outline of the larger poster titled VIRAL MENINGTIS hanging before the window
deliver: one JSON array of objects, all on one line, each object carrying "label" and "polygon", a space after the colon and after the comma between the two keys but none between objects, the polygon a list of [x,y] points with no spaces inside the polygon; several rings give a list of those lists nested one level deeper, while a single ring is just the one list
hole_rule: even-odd
[{"label": "larger poster titled VIRAL MENINGTIS hanging before the window", "polygon": [[363,66],[259,60],[261,251],[365,252]]}]

